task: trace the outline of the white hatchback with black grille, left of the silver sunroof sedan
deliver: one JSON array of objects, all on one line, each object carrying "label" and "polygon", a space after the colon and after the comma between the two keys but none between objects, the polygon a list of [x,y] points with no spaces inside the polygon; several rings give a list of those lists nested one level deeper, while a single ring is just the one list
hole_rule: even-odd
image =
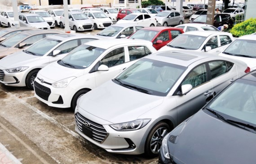
[{"label": "white hatchback with black grille, left of the silver sunroof sedan", "polygon": [[[156,52],[152,43],[137,39],[113,39],[111,42],[104,39],[85,43],[62,60],[40,70],[35,79],[35,97],[49,106],[75,110],[81,95],[152,52]],[[42,80],[43,83],[40,82]]]}]

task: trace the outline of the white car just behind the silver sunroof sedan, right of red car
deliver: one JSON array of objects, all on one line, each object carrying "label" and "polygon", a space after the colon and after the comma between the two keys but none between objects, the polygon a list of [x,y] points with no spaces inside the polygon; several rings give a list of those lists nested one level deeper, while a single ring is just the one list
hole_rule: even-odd
[{"label": "white car just behind the silver sunroof sedan, right of red car", "polygon": [[159,51],[185,49],[218,55],[234,38],[232,34],[217,31],[189,31],[179,35]]}]

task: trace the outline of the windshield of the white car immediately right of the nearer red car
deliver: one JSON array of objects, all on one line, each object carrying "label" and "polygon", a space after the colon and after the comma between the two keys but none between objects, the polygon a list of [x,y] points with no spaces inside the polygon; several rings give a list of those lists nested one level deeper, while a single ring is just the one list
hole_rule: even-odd
[{"label": "windshield of the white car immediately right of the nearer red car", "polygon": [[172,40],[168,46],[187,50],[197,50],[199,47],[201,47],[206,38],[207,37],[199,35],[182,34],[177,36],[176,39]]}]

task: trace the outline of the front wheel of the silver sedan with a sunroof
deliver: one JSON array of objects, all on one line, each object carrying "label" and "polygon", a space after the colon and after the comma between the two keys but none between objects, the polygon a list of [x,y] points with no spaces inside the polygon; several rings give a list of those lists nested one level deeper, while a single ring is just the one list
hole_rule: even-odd
[{"label": "front wheel of the silver sedan with a sunroof", "polygon": [[159,155],[162,140],[170,131],[170,126],[165,122],[160,121],[154,125],[154,127],[150,130],[145,142],[144,151],[147,157],[156,157]]}]

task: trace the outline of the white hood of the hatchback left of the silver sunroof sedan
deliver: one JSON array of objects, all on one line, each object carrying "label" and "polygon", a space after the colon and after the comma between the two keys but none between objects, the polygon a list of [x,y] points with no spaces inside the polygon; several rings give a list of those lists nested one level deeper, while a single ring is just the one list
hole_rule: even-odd
[{"label": "white hood of the hatchback left of the silver sunroof sedan", "polygon": [[72,76],[79,77],[83,74],[84,69],[72,69],[59,65],[56,61],[41,69],[37,77],[40,79],[43,78],[45,82],[54,83]]}]

